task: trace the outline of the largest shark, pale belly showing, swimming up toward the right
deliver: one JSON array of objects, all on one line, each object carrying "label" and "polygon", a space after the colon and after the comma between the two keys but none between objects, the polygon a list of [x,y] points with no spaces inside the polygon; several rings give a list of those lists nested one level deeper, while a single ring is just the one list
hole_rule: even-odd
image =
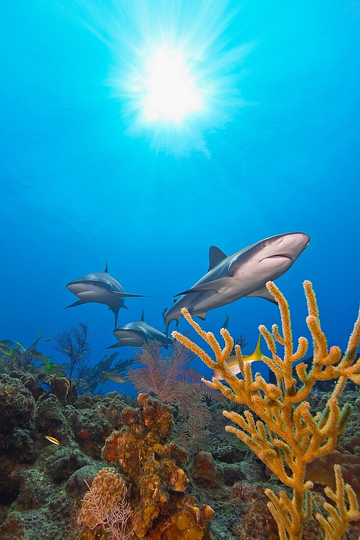
[{"label": "largest shark, pale belly showing, swimming up toward the right", "polygon": [[164,310],[166,335],[169,323],[181,319],[181,308],[204,320],[210,309],[225,306],[243,296],[260,296],[275,302],[266,282],[279,278],[293,266],[309,245],[305,233],[277,234],[227,256],[216,246],[209,249],[210,265],[199,281],[182,293],[174,305]]}]

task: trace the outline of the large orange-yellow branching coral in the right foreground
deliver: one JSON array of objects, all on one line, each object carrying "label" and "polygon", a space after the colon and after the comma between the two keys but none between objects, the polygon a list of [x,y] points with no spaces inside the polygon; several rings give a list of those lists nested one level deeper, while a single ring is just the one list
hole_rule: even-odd
[{"label": "large orange-yellow branching coral in the right foreground", "polygon": [[[260,417],[260,420],[255,420],[250,410],[246,410],[243,415],[223,411],[229,420],[240,427],[227,426],[226,430],[246,443],[281,482],[293,491],[292,498],[284,491],[280,491],[279,497],[271,489],[267,489],[266,494],[270,498],[268,507],[279,527],[281,540],[297,540],[302,536],[304,524],[312,516],[310,489],[313,483],[305,480],[307,465],[335,449],[351,414],[351,407],[347,403],[342,409],[339,408],[338,397],[347,380],[360,383],[360,359],[356,360],[360,342],[360,313],[345,354],[342,356],[339,347],[330,347],[328,351],[313,287],[309,281],[304,282],[309,312],[306,321],[313,338],[314,357],[308,371],[304,362],[297,363],[296,373],[302,382],[301,388],[297,388],[292,374],[293,364],[304,358],[308,341],[300,338],[294,352],[288,303],[273,282],[267,283],[267,289],[279,305],[283,331],[281,336],[277,325],[273,325],[272,334],[266,327],[259,327],[272,355],[272,359],[263,355],[262,361],[275,374],[276,384],[267,383],[259,373],[253,377],[250,363],[243,361],[239,346],[235,346],[235,352],[243,379],[233,375],[226,363],[234,345],[229,332],[225,328],[220,330],[225,341],[222,349],[215,336],[203,331],[185,308],[181,310],[182,315],[212,348],[215,361],[186,336],[179,332],[173,332],[172,336],[198,355],[214,373],[219,373],[230,386],[225,386],[213,377],[212,382],[204,380],[210,388],[219,389],[228,399],[244,404]],[[283,359],[277,353],[276,342],[284,348]],[[305,400],[316,381],[333,379],[337,383],[326,406],[313,416]],[[338,474],[341,476],[341,473]],[[345,512],[342,516],[349,521],[354,515],[354,512]]]}]

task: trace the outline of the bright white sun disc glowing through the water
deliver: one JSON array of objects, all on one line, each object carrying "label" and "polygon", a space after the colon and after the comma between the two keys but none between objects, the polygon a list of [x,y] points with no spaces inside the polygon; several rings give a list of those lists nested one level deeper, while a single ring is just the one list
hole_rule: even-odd
[{"label": "bright white sun disc glowing through the water", "polygon": [[202,109],[201,92],[184,54],[168,46],[148,57],[142,90],[142,111],[148,123],[181,123]]}]

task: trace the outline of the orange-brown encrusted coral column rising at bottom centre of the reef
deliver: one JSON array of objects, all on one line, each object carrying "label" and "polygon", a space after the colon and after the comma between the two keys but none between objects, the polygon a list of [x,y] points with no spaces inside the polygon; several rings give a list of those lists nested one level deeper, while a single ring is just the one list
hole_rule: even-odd
[{"label": "orange-brown encrusted coral column rising at bottom centre of the reef", "polygon": [[105,461],[119,463],[131,482],[134,535],[201,540],[214,512],[185,494],[189,480],[180,465],[187,461],[187,453],[174,442],[166,444],[172,431],[170,409],[146,394],[138,396],[138,403],[137,409],[123,410],[125,427],[107,438],[102,453]]}]

